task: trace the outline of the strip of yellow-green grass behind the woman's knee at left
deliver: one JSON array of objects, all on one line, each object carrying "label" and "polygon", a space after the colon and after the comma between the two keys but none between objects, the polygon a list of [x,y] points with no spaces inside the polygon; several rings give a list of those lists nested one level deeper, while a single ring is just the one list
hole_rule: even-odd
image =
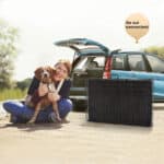
[{"label": "strip of yellow-green grass behind the woman's knee at left", "polygon": [[22,91],[20,89],[5,89],[0,92],[0,102],[7,99],[22,99],[25,95],[26,90]]}]

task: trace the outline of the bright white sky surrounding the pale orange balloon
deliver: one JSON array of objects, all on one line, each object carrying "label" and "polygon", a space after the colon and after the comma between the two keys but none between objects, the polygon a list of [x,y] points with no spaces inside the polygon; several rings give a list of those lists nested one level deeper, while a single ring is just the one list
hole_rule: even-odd
[{"label": "bright white sky surrounding the pale orange balloon", "polygon": [[[39,66],[72,60],[73,51],[54,42],[85,37],[109,49],[140,50],[164,46],[163,0],[0,0],[0,19],[20,30],[15,80],[32,78]],[[125,30],[126,19],[142,13],[149,33],[138,44]]]}]

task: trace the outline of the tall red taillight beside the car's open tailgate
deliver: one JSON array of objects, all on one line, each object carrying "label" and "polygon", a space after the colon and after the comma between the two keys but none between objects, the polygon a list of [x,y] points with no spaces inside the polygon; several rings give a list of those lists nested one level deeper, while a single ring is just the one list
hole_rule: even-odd
[{"label": "tall red taillight beside the car's open tailgate", "polygon": [[112,56],[107,58],[104,72],[103,72],[103,79],[110,79],[112,74]]}]

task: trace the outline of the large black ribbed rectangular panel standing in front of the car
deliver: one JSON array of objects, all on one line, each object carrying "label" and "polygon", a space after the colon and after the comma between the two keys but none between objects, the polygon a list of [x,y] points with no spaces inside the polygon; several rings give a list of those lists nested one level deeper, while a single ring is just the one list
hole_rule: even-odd
[{"label": "large black ribbed rectangular panel standing in front of the car", "polygon": [[152,126],[150,80],[90,79],[89,121]]}]

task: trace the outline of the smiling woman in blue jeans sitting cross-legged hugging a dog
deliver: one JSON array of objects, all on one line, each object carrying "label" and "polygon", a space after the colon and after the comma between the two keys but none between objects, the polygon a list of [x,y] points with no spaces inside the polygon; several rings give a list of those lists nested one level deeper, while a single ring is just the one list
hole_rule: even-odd
[{"label": "smiling woman in blue jeans sitting cross-legged hugging a dog", "polygon": [[[56,81],[56,87],[61,84],[60,90],[58,94],[54,95],[51,94],[49,98],[58,99],[58,109],[59,115],[63,122],[67,122],[67,115],[72,109],[72,103],[69,99],[69,92],[71,86],[71,81],[68,79],[70,71],[71,71],[71,65],[68,60],[59,60],[56,65],[56,75],[54,77],[54,80]],[[33,81],[31,83],[31,86],[27,91],[26,101],[30,101],[31,96],[37,90],[39,86],[39,81],[34,77]],[[48,93],[47,87],[39,89],[39,96],[45,95]],[[26,104],[26,103],[25,103]],[[24,103],[21,102],[14,102],[9,101],[3,103],[3,108],[11,114],[11,122],[27,122],[33,114],[34,109],[26,106]],[[52,110],[52,106],[47,106],[44,110],[42,110],[36,119],[36,122],[55,122],[56,116]]]}]

